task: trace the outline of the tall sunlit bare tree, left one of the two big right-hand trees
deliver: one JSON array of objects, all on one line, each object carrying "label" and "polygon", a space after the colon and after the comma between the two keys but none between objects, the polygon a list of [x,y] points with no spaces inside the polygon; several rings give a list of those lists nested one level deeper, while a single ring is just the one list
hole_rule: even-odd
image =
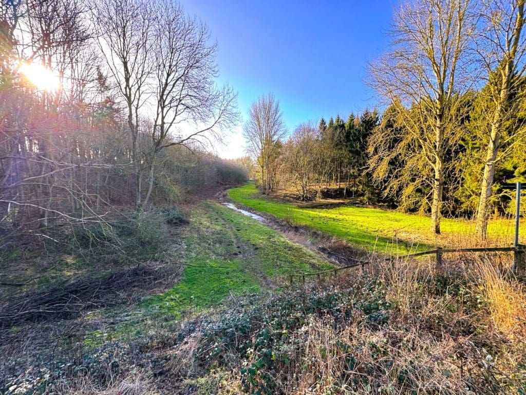
[{"label": "tall sunlit bare tree, left one of the two big right-hand trees", "polygon": [[[458,107],[473,81],[468,47],[474,18],[465,0],[416,0],[395,13],[390,48],[370,64],[370,85],[390,102],[414,105],[406,132],[432,169],[431,231],[440,233],[444,150],[458,135]],[[405,112],[402,112],[403,115]]]}]

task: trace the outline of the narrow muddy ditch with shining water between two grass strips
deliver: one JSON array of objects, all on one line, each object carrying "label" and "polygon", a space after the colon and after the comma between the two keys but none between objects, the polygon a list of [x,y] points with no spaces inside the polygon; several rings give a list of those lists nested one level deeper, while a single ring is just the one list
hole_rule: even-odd
[{"label": "narrow muddy ditch with shining water between two grass strips", "polygon": [[345,241],[311,229],[308,226],[290,226],[286,221],[278,219],[273,215],[255,212],[242,204],[232,201],[228,197],[227,191],[219,192],[215,195],[215,198],[231,210],[241,212],[245,215],[252,214],[248,216],[280,232],[290,243],[304,246],[333,265],[347,266],[357,263],[369,254],[365,250],[353,248]]}]

